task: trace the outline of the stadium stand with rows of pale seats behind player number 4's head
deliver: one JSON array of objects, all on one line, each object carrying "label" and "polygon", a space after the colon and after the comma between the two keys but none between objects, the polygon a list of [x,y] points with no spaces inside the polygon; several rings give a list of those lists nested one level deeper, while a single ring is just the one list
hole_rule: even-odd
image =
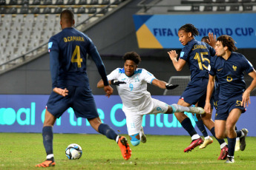
[{"label": "stadium stand with rows of pale seats behind player number 4's head", "polygon": [[120,2],[119,0],[0,0],[0,71],[7,68],[5,64],[13,65],[24,61],[24,55],[27,56],[28,53],[30,58],[45,51],[50,36],[60,31],[59,13],[62,10],[73,10],[76,26],[79,26],[82,22],[86,21],[89,24],[105,16],[118,7],[117,4]]}]

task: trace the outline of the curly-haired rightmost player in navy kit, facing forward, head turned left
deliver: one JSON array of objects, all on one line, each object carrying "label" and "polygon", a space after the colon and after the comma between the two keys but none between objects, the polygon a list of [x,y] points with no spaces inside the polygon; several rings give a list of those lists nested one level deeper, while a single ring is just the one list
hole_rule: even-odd
[{"label": "curly-haired rightmost player in navy kit, facing forward, head turned left", "polygon": [[[205,110],[207,113],[211,112],[210,98],[216,76],[220,85],[220,94],[214,120],[215,134],[219,139],[228,138],[229,154],[226,163],[234,163],[236,137],[240,137],[240,150],[243,151],[246,148],[245,138],[248,133],[247,129],[235,131],[234,127],[250,103],[250,92],[256,86],[256,72],[244,55],[234,52],[237,47],[234,46],[231,36],[218,37],[215,50],[217,57],[211,60]],[[253,79],[247,89],[244,73]]]}]

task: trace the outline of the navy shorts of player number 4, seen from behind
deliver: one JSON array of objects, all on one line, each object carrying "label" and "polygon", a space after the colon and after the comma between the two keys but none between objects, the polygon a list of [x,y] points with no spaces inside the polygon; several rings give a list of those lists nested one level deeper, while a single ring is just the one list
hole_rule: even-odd
[{"label": "navy shorts of player number 4, seen from behind", "polygon": [[[64,89],[64,88],[62,88]],[[68,95],[63,97],[51,92],[47,101],[47,110],[59,118],[69,107],[73,108],[76,118],[99,117],[91,89],[85,86],[68,86]]]}]

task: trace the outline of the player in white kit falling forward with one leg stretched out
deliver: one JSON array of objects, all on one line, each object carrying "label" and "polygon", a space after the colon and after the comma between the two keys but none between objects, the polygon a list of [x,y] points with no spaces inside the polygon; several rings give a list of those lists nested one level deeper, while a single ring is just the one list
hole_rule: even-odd
[{"label": "player in white kit falling forward with one leg stretched out", "polygon": [[[137,68],[141,58],[136,52],[127,52],[123,59],[125,61],[124,67],[114,69],[107,77],[110,84],[116,85],[119,96],[122,99],[122,111],[125,112],[128,135],[132,145],[137,146],[140,141],[142,143],[146,142],[142,129],[143,115],[172,114],[174,112],[204,113],[201,107],[168,105],[151,98],[150,92],[147,91],[147,84],[153,84],[161,89],[174,89],[178,85],[167,84],[165,81],[157,80],[147,70]],[[103,81],[100,80],[97,87],[102,88],[103,86]]]}]

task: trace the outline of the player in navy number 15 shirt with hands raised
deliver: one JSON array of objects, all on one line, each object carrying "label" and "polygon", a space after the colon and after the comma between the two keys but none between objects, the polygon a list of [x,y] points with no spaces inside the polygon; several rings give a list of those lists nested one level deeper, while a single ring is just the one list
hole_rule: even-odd
[{"label": "player in navy number 15 shirt with hands raised", "polygon": [[[206,101],[206,86],[209,79],[209,67],[211,56],[215,55],[215,50],[211,47],[214,46],[214,41],[210,41],[206,44],[194,39],[194,36],[199,35],[198,30],[193,24],[185,24],[180,27],[178,36],[180,43],[183,44],[183,50],[180,52],[180,59],[177,61],[177,53],[175,50],[168,52],[172,63],[177,71],[181,71],[186,63],[191,71],[191,81],[188,83],[183,94],[180,96],[180,100],[177,104],[181,106],[191,106],[197,104],[197,106],[204,107]],[[184,112],[175,113],[177,120],[191,136],[191,144],[184,149],[184,152],[189,152],[200,144],[203,143],[203,139],[197,134],[192,126],[191,120]],[[203,123],[214,134],[214,122],[211,120],[211,115],[202,115]],[[218,139],[217,139],[218,140]],[[220,149],[227,149],[225,140],[218,140],[220,143]],[[226,152],[225,152],[226,153]],[[220,153],[220,159],[225,159],[226,154],[223,155],[223,151]]]}]

